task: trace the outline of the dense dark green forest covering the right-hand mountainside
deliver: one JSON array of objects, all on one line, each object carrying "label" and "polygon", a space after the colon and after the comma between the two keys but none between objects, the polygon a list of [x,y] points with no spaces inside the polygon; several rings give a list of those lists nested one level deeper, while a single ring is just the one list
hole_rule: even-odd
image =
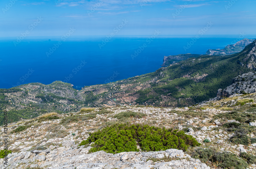
[{"label": "dense dark green forest covering the right-hand mountainside", "polygon": [[[151,87],[137,91],[136,94],[140,96],[136,102],[184,107],[214,98],[218,89],[229,86],[233,78],[251,71],[246,66],[238,64],[244,63],[245,57],[246,54],[242,52],[227,56],[204,55],[160,68],[154,73],[147,74],[147,77],[157,79],[158,82],[151,82]],[[145,75],[129,78],[127,82],[139,82],[139,79],[144,77]],[[160,104],[163,101],[160,99],[161,95],[168,95],[172,99]],[[186,98],[191,100],[186,100]]]}]

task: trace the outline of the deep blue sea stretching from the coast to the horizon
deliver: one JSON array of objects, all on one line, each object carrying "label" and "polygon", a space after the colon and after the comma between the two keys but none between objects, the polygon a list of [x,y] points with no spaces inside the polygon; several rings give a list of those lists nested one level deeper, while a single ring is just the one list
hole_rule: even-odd
[{"label": "deep blue sea stretching from the coast to the horizon", "polygon": [[234,40],[200,38],[185,51],[191,38],[34,38],[21,42],[6,38],[0,40],[0,88],[61,80],[81,89],[154,72],[161,67],[164,56],[205,54],[208,49],[222,49]]}]

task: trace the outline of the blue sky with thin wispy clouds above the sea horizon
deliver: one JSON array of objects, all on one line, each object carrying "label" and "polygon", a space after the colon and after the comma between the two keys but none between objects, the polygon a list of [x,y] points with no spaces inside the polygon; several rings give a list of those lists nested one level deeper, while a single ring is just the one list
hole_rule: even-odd
[{"label": "blue sky with thin wispy clouds above the sea horizon", "polygon": [[1,0],[0,37],[26,31],[27,37],[58,37],[70,28],[74,36],[198,35],[208,22],[205,35],[248,35],[256,34],[255,6],[255,0]]}]

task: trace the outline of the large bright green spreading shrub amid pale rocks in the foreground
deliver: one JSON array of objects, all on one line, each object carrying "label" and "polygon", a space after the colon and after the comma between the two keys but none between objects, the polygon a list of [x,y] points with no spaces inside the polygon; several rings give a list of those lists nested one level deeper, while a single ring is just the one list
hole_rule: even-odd
[{"label": "large bright green spreading shrub amid pale rocks in the foreground", "polygon": [[92,143],[89,152],[104,150],[108,153],[138,151],[137,143],[142,151],[160,151],[166,149],[187,150],[189,146],[199,146],[192,136],[184,131],[165,129],[148,125],[115,124],[105,127],[83,140],[79,146]]}]

